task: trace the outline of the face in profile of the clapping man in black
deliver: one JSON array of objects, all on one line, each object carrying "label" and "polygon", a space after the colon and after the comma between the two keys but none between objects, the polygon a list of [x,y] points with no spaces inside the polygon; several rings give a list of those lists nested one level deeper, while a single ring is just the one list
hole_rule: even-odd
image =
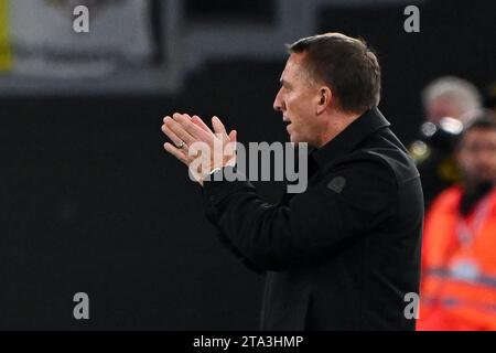
[{"label": "face in profile of the clapping man in black", "polygon": [[321,97],[303,66],[303,60],[304,53],[293,53],[289,57],[273,108],[282,113],[291,142],[319,146],[323,122],[317,116],[316,105]]}]

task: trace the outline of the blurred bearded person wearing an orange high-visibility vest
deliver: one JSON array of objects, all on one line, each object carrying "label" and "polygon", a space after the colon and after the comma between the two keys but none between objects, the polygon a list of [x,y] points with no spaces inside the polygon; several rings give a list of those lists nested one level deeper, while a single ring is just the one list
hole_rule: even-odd
[{"label": "blurred bearded person wearing an orange high-visibility vest", "polygon": [[427,217],[418,330],[496,330],[496,118],[473,120],[457,146],[460,184]]}]

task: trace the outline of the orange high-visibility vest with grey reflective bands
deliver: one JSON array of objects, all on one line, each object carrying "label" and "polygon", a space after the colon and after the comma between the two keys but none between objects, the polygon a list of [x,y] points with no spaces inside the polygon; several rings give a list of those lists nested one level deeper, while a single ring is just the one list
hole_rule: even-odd
[{"label": "orange high-visibility vest with grey reflective bands", "polygon": [[465,217],[462,194],[448,189],[425,218],[418,330],[496,330],[496,188]]}]

